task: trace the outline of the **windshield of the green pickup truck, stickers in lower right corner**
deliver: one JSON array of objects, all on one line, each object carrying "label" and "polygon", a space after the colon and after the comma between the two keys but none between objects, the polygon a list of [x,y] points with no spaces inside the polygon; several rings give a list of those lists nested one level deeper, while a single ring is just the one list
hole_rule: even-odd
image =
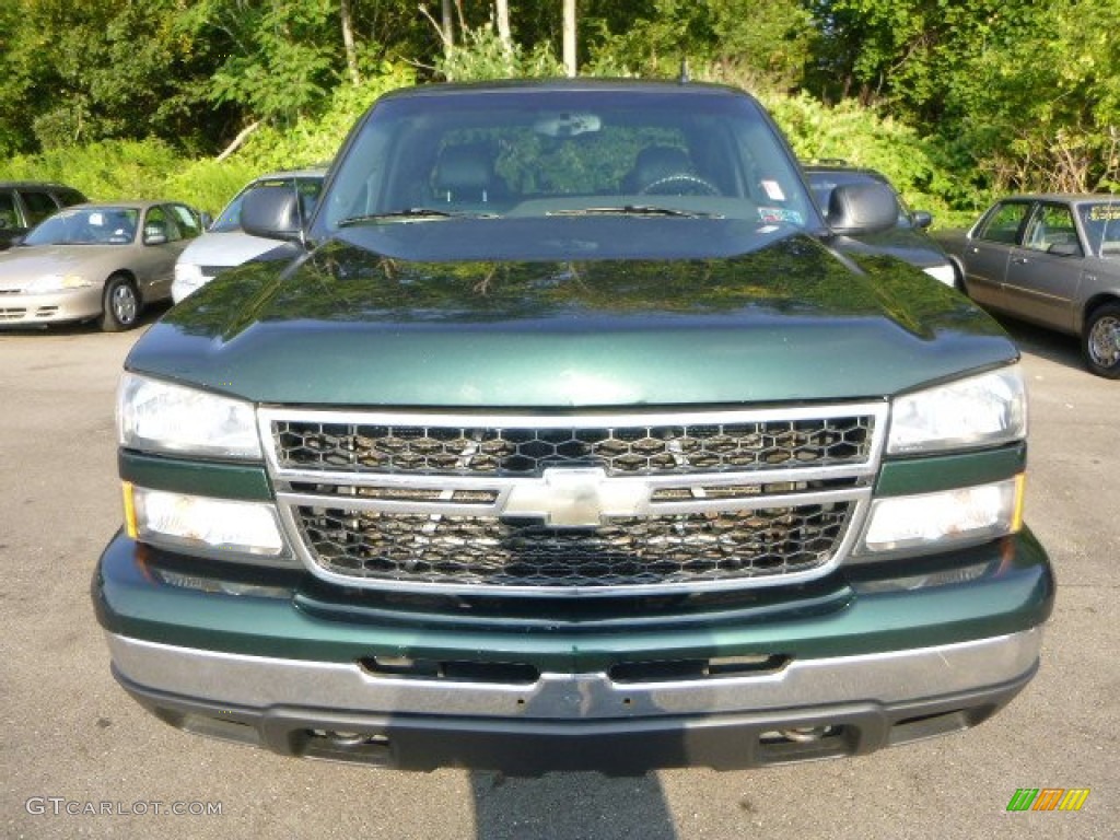
[{"label": "windshield of the green pickup truck, stickers in lower right corner", "polygon": [[[753,100],[666,87],[386,100],[346,150],[316,226],[361,237],[357,228],[463,217],[604,216],[718,218],[765,232],[820,225]],[[656,230],[632,225],[635,251]]]}]

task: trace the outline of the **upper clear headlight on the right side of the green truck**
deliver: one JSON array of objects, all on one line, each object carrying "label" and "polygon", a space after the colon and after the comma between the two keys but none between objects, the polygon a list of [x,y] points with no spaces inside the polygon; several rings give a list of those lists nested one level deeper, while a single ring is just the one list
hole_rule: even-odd
[{"label": "upper clear headlight on the right side of the green truck", "polygon": [[1026,389],[1019,366],[1011,365],[896,398],[887,452],[998,446],[1026,435]]}]

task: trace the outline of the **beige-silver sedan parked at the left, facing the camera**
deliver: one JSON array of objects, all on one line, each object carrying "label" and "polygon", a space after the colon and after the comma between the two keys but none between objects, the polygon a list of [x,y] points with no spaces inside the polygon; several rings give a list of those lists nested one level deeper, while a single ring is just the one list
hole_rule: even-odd
[{"label": "beige-silver sedan parked at the left, facing the camera", "polygon": [[176,202],[83,204],[0,253],[0,327],[96,319],[116,332],[169,298],[175,261],[203,230]]}]

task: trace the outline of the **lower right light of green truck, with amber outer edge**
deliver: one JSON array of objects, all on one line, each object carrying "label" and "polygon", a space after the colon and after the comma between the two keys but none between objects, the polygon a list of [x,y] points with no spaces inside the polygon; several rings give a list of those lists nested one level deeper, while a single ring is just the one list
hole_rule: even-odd
[{"label": "lower right light of green truck, with amber outer edge", "polygon": [[1023,526],[1023,485],[1018,475],[995,484],[877,498],[857,553],[943,551],[1015,533]]}]

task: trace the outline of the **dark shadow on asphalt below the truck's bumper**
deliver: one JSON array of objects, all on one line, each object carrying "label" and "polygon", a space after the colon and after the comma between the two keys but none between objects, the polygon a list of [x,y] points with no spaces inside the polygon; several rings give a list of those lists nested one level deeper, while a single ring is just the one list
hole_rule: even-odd
[{"label": "dark shadow on asphalt below the truck's bumper", "polygon": [[470,787],[479,840],[678,838],[664,792],[652,773],[622,778],[598,773],[508,778],[475,772]]}]

